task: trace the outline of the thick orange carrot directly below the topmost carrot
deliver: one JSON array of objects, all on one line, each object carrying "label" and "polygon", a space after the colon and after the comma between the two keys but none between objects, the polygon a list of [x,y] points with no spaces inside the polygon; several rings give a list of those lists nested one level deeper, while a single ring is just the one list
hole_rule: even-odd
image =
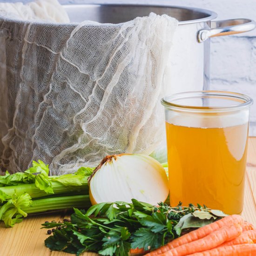
[{"label": "thick orange carrot directly below the topmost carrot", "polygon": [[224,226],[201,239],[170,249],[161,254],[161,256],[185,256],[191,253],[213,249],[226,241],[235,239],[242,231],[243,229],[240,224]]}]

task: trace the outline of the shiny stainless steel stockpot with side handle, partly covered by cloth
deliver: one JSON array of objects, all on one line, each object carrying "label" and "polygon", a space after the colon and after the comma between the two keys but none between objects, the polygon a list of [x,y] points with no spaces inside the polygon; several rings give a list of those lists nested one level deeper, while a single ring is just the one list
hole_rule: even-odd
[{"label": "shiny stainless steel stockpot with side handle, partly covered by cloth", "polygon": [[179,20],[169,72],[172,93],[209,89],[210,37],[238,34],[255,28],[249,19],[212,21],[217,14],[199,8],[145,5],[66,5],[72,22],[94,20],[122,23],[136,17],[168,14]]}]

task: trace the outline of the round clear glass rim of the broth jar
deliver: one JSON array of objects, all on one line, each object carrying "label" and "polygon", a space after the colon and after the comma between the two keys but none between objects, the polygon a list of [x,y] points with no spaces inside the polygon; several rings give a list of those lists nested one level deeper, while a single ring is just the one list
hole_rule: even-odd
[{"label": "round clear glass rim of the broth jar", "polygon": [[[233,101],[234,104],[225,105],[225,106],[193,106],[189,104],[180,104],[175,103],[175,101],[182,101],[186,99],[222,99],[222,100],[229,100]],[[223,101],[223,102],[224,102]],[[237,102],[238,104],[236,104]],[[228,92],[228,91],[189,91],[189,92],[181,92],[176,94],[171,94],[161,99],[161,103],[165,108],[171,110],[180,110],[180,111],[189,111],[189,112],[229,112],[229,111],[236,111],[242,108],[248,108],[253,104],[253,100],[245,95],[236,92]]]}]

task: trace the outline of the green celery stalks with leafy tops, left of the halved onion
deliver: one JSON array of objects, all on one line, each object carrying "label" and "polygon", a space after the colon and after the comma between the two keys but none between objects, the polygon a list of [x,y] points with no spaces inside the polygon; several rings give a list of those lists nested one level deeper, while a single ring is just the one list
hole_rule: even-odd
[{"label": "green celery stalks with leafy tops, left of the halved onion", "polygon": [[74,174],[48,176],[48,165],[39,160],[24,173],[6,172],[0,176],[0,220],[12,227],[28,213],[90,207],[87,179],[92,171],[81,167]]}]

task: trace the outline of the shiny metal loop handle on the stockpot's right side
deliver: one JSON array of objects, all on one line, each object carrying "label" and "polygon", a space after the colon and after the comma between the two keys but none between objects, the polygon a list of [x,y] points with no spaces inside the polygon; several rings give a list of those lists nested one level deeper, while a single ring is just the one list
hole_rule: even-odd
[{"label": "shiny metal loop handle on the stockpot's right side", "polygon": [[253,30],[256,22],[249,19],[235,20],[217,20],[211,21],[211,29],[202,29],[197,32],[197,40],[199,43],[207,40],[209,37],[239,34]]}]

